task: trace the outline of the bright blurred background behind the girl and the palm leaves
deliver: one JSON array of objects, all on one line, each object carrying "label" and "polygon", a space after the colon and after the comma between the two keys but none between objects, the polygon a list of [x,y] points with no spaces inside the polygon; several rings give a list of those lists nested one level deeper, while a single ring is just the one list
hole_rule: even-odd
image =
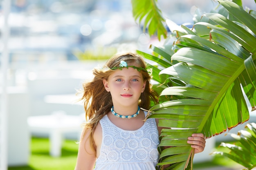
[{"label": "bright blurred background behind the girl and the palm leaves", "polygon": [[[130,0],[10,0],[8,27],[7,0],[0,2],[0,170],[74,169],[85,121],[76,101],[82,82],[115,53],[150,53],[150,44],[162,42],[135,22]],[[217,5],[159,0],[164,16],[191,26],[196,9],[205,13]],[[243,5],[256,9],[254,0]],[[211,161],[209,153],[223,137],[207,142],[197,162]]]}]

